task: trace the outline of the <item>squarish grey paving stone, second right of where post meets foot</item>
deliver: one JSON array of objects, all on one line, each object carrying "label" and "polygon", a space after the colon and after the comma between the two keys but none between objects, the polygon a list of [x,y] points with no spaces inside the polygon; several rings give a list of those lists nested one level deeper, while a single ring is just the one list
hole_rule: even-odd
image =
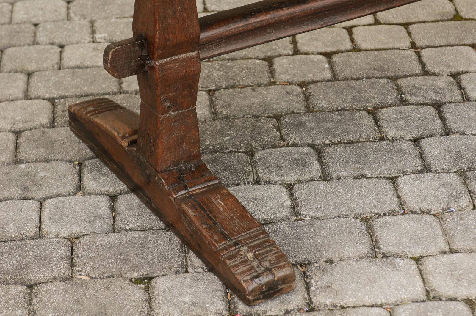
[{"label": "squarish grey paving stone, second right of where post meets foot", "polygon": [[252,160],[260,182],[291,183],[321,178],[316,151],[308,147],[271,148],[258,151]]}]

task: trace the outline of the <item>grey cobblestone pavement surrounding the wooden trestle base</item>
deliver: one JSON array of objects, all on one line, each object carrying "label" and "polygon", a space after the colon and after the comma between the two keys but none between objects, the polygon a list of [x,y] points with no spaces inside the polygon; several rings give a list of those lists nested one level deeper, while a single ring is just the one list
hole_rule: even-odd
[{"label": "grey cobblestone pavement surrounding the wooden trestle base", "polygon": [[139,109],[135,77],[102,69],[132,9],[0,0],[0,315],[476,315],[475,0],[202,63],[203,159],[296,268],[255,307],[69,131],[79,100]]}]

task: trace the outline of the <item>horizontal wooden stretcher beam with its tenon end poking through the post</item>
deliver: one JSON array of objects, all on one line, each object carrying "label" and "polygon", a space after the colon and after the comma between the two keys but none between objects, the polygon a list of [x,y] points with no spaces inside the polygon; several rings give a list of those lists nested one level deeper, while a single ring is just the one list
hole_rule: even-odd
[{"label": "horizontal wooden stretcher beam with its tenon end poking through the post", "polygon": [[[277,39],[317,30],[418,0],[264,0],[199,18],[200,59],[209,59]],[[104,68],[115,78],[146,71],[143,37],[110,44]],[[118,59],[117,57],[121,58]],[[124,61],[130,65],[124,67]],[[121,67],[117,67],[120,64]]]}]

